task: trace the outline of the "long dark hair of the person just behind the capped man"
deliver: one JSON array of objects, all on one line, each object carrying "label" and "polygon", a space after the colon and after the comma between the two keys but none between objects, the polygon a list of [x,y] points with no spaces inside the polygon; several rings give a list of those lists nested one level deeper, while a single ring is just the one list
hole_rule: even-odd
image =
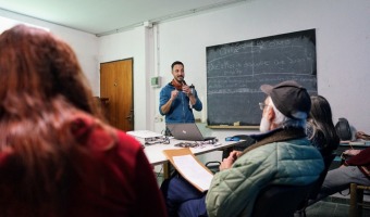
[{"label": "long dark hair of the person just behind the capped man", "polygon": [[331,106],[322,95],[311,97],[311,110],[308,122],[313,128],[310,139],[321,133],[324,140],[324,144],[321,144],[323,151],[331,152],[336,150],[340,144],[340,138],[333,124]]}]

